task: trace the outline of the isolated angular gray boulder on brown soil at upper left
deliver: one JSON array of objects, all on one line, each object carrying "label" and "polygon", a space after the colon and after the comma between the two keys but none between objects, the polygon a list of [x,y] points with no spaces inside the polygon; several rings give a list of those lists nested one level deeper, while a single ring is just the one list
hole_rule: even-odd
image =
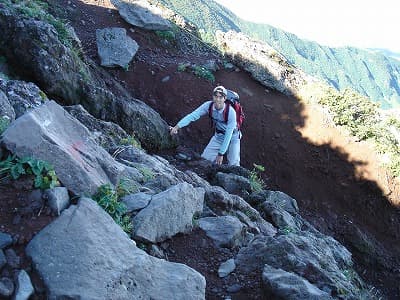
[{"label": "isolated angular gray boulder on brown soil at upper left", "polygon": [[103,67],[127,68],[139,45],[126,35],[124,28],[96,30],[97,52]]}]

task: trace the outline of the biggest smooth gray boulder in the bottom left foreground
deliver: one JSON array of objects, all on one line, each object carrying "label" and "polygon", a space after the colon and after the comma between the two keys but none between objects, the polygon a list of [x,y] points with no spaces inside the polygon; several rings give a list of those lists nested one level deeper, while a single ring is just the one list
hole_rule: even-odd
[{"label": "biggest smooth gray boulder in the bottom left foreground", "polygon": [[26,252],[48,299],[205,299],[202,275],[147,255],[88,198],[40,231]]}]

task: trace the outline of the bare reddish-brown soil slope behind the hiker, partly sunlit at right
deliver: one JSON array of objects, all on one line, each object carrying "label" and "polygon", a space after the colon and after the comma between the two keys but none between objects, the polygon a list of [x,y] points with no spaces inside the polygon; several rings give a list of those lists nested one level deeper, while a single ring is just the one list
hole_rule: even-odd
[{"label": "bare reddish-brown soil slope behind the hiker, partly sunlit at right", "polygon": [[[127,29],[128,35],[138,42],[139,51],[128,71],[114,69],[109,72],[134,97],[157,110],[171,125],[209,99],[215,85],[223,84],[237,90],[247,117],[243,129],[242,165],[249,169],[253,163],[265,166],[264,179],[269,189],[283,191],[295,198],[303,217],[352,251],[356,268],[368,283],[381,289],[390,299],[400,298],[398,185],[379,167],[369,146],[326,125],[326,118],[318,109],[266,89],[244,71],[217,71],[215,83],[188,72],[178,72],[179,63],[201,62],[213,55],[188,55],[172,46],[161,46],[160,38],[153,32],[137,28],[130,31],[131,26],[108,0],[52,2],[61,4],[62,14],[75,28],[85,54],[96,62],[99,60],[95,30],[105,27]],[[180,144],[201,152],[211,134],[205,119],[181,130]],[[1,193],[0,203],[3,199],[16,198]],[[3,224],[4,212],[1,214]],[[354,249],[348,233],[356,227],[383,247],[380,265],[363,262],[362,254]],[[210,271],[217,268],[212,260],[213,252],[208,260],[204,258],[206,253],[197,257],[197,253],[208,249],[204,248],[204,240],[205,237],[174,238],[176,243],[171,242],[171,247],[179,256],[171,257],[184,262],[185,256],[196,253],[188,258],[188,265],[206,276],[207,295],[213,299],[223,294],[225,283]],[[216,260],[227,256],[213,251]],[[243,291],[248,292],[247,299],[256,295],[247,287]],[[240,298],[239,294],[237,297]]]}]

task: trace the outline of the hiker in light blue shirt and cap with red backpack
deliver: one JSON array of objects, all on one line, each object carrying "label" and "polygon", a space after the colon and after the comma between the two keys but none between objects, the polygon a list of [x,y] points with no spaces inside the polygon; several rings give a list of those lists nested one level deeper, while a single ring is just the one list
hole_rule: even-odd
[{"label": "hiker in light blue shirt and cap with red backpack", "polygon": [[177,134],[180,128],[198,120],[201,116],[209,114],[214,124],[215,133],[201,157],[221,165],[226,153],[228,164],[230,166],[239,166],[241,133],[237,128],[236,111],[229,103],[225,102],[226,98],[226,88],[217,86],[213,90],[212,101],[204,102],[180,120],[177,125],[170,126],[169,129],[171,135]]}]

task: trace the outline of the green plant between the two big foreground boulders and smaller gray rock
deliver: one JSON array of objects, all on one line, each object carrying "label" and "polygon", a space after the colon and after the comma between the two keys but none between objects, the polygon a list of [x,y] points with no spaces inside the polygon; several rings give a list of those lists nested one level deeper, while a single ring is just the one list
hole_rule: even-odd
[{"label": "green plant between the two big foreground boulders and smaller gray rock", "polygon": [[92,198],[114,219],[115,223],[129,234],[132,232],[133,225],[130,216],[126,214],[125,204],[119,201],[121,190],[118,187],[114,189],[110,184],[104,184]]}]

